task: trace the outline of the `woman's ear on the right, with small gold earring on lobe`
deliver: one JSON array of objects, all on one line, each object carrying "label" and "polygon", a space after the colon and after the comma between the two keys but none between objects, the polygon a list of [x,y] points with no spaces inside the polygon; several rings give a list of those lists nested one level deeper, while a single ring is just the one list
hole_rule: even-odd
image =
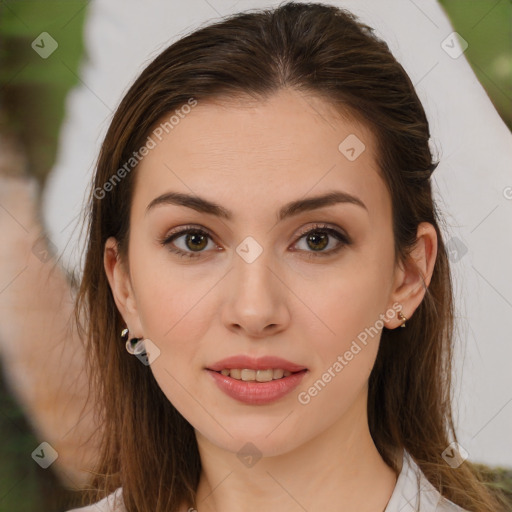
[{"label": "woman's ear on the right, with small gold earring on lobe", "polygon": [[[395,271],[391,304],[399,303],[406,318],[411,318],[421,304],[430,285],[437,257],[437,233],[432,224],[422,222],[416,233],[416,243],[407,260]],[[395,316],[386,322],[388,329],[399,327],[402,321]]]}]

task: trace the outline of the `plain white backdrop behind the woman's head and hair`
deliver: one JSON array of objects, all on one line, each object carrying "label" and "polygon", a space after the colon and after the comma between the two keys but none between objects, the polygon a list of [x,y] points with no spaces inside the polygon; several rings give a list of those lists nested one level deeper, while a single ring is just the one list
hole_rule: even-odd
[{"label": "plain white backdrop behind the woman's head and hair", "polygon": [[[80,274],[80,211],[112,112],[165,46],[214,18],[277,1],[96,0],[85,28],[82,84],[67,98],[58,159],[43,194],[45,227]],[[511,134],[434,1],[325,1],[377,29],[416,86],[431,125],[436,198],[451,240],[459,316],[458,435],[475,461],[512,466]],[[485,22],[485,20],[482,20]],[[461,34],[464,37],[464,34]],[[444,41],[444,43],[443,43]],[[459,52],[460,53],[460,52]],[[451,55],[450,55],[451,54]]]}]

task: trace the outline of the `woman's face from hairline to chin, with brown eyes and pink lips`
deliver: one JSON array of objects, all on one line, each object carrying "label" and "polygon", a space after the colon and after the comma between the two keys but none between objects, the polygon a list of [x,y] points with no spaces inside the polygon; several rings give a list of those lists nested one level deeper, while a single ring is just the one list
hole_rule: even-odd
[{"label": "woman's face from hairline to chin, with brown eyes and pink lips", "polygon": [[215,445],[282,454],[366,419],[403,278],[375,151],[361,124],[283,90],[199,102],[137,168],[129,270],[109,279],[131,335],[159,350],[148,371]]}]

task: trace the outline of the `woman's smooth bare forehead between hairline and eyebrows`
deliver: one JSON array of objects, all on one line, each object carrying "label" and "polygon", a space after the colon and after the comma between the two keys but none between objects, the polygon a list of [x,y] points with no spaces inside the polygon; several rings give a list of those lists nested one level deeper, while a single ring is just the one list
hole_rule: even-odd
[{"label": "woman's smooth bare forehead between hairline and eyebrows", "polygon": [[372,133],[316,96],[282,90],[265,101],[199,101],[187,112],[155,125],[156,144],[136,171],[134,209],[179,191],[257,213],[333,189],[361,197],[377,215],[389,208]]}]

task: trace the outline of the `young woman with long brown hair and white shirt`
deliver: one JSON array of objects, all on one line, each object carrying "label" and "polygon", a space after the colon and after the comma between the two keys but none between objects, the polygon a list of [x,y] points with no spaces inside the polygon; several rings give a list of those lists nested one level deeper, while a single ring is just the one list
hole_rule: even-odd
[{"label": "young woman with long brown hair and white shirt", "polygon": [[453,444],[429,137],[387,45],[322,4],[144,70],[91,190],[84,511],[504,510]]}]

